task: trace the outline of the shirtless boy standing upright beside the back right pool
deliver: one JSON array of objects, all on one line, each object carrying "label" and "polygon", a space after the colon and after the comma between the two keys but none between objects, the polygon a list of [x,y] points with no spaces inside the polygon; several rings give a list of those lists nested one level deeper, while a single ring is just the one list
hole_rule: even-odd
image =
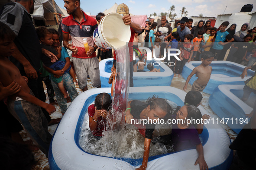
[{"label": "shirtless boy standing upright beside the back right pool", "polygon": [[211,78],[212,67],[209,65],[211,64],[212,60],[214,60],[214,54],[209,51],[204,51],[201,58],[202,63],[195,67],[191,74],[188,76],[183,87],[184,91],[187,90],[188,82],[194,74],[198,76],[198,79],[194,81],[191,90],[199,92],[204,90],[205,86]]}]

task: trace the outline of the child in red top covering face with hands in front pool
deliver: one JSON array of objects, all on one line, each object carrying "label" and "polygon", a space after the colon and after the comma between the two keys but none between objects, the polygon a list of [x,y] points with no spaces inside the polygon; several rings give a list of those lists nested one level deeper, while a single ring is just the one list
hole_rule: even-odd
[{"label": "child in red top covering face with hands in front pool", "polygon": [[94,104],[88,107],[89,127],[92,134],[100,139],[102,132],[107,130],[107,116],[111,110],[111,96],[107,93],[100,93],[96,96]]}]

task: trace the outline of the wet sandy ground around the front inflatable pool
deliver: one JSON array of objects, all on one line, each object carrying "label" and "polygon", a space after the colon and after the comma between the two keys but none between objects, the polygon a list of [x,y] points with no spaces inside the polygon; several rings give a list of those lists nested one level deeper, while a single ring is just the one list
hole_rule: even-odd
[{"label": "wet sandy ground around the front inflatable pool", "polygon": [[[175,87],[175,88],[179,88],[179,89],[182,90],[184,84],[185,84],[185,79],[178,78],[178,76],[177,76],[177,77],[173,78],[171,86]],[[88,89],[94,88],[94,87],[91,86],[90,79],[88,79],[87,85],[88,85]],[[76,88],[77,88],[78,94],[80,94],[82,91],[78,88],[78,85],[76,85]],[[187,91],[190,91],[190,90],[191,90],[191,85],[188,84]],[[45,88],[45,93],[47,94],[46,88]],[[211,114],[213,114],[214,116],[217,117],[217,115],[211,110],[211,107],[208,104],[208,99],[209,99],[210,95],[209,94],[205,94],[205,93],[202,93],[202,94],[203,94],[203,100],[201,102],[201,105],[209,113],[211,113]],[[48,97],[46,99],[46,102],[49,103]],[[68,106],[69,106],[69,104],[71,104],[71,103],[68,103]],[[58,105],[55,105],[55,107],[56,107],[57,110],[56,110],[55,113],[53,113],[51,115],[51,117],[52,118],[62,117],[62,114],[61,114],[61,111],[60,111],[60,108],[58,107]],[[49,132],[52,135],[55,132],[56,127],[57,127],[57,125],[52,125],[52,126],[48,127],[48,130],[49,130]],[[233,132],[232,129],[228,128],[226,125],[223,125],[223,128],[226,130],[226,132],[228,133],[231,141],[233,142],[233,140],[237,137],[237,134],[235,132]],[[26,132],[22,131],[21,135],[22,135],[24,140],[29,140],[29,137],[27,137]],[[35,167],[33,168],[33,170],[49,170],[50,169],[49,168],[49,164],[48,164],[48,159],[45,157],[45,155],[40,150],[33,151],[33,154],[35,155],[35,159],[37,161]]]}]

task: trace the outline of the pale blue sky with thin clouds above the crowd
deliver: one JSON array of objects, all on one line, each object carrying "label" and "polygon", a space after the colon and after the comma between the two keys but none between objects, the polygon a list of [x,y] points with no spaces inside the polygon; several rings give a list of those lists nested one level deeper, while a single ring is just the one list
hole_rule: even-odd
[{"label": "pale blue sky with thin clouds above the crowd", "polygon": [[[55,0],[58,6],[64,8],[63,0]],[[245,4],[253,4],[253,11],[256,11],[255,0],[81,0],[81,8],[84,12],[91,12],[97,15],[105,9],[109,9],[114,3],[125,3],[133,15],[149,15],[152,13],[168,12],[170,6],[175,5],[177,17],[181,16],[180,10],[185,6],[188,16],[214,16],[225,13],[238,13]]]}]

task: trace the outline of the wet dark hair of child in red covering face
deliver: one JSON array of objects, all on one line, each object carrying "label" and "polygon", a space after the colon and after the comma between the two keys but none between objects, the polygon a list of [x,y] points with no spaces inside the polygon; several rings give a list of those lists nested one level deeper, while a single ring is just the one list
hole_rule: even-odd
[{"label": "wet dark hair of child in red covering face", "polygon": [[108,93],[100,93],[96,96],[94,106],[97,110],[111,110],[112,99]]}]

